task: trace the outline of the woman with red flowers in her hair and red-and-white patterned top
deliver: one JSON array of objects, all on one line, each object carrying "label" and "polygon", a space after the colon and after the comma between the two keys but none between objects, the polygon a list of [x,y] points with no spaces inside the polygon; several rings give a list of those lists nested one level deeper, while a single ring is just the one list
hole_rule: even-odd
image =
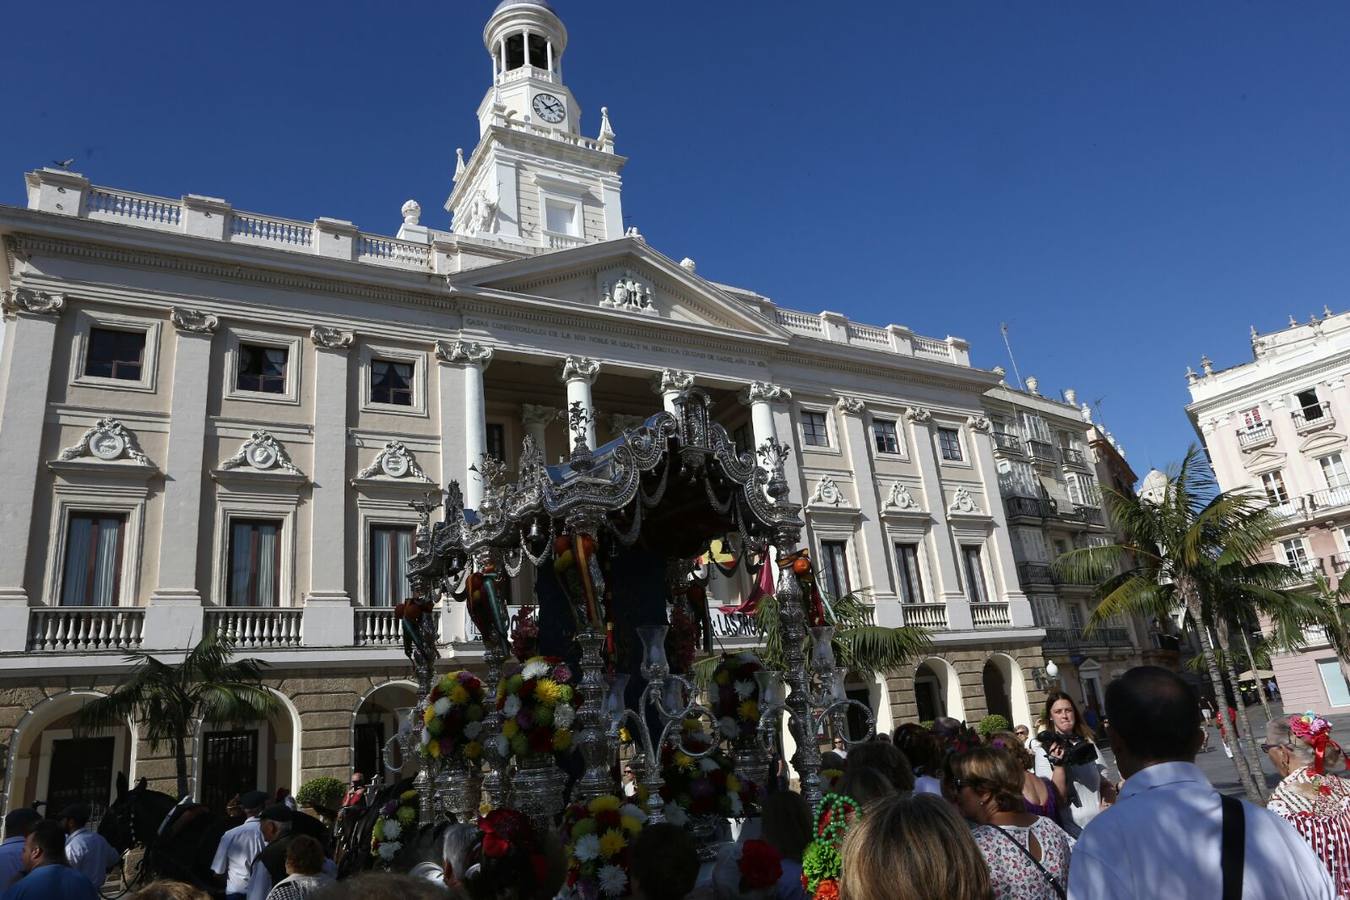
[{"label": "woman with red flowers in her hair and red-and-white patterned top", "polygon": [[1261,749],[1282,779],[1266,808],[1312,846],[1336,897],[1350,899],[1350,781],[1328,773],[1345,760],[1331,739],[1331,723],[1314,712],[1272,719]]}]

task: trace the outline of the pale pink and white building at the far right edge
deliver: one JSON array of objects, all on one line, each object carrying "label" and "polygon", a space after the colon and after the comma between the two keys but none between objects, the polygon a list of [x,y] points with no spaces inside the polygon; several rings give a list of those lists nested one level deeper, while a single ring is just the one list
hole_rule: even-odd
[{"label": "pale pink and white building at the far right edge", "polygon": [[[1282,524],[1273,557],[1336,580],[1350,567],[1350,313],[1314,316],[1269,335],[1251,329],[1253,360],[1187,371],[1187,414],[1224,490],[1269,498]],[[1308,634],[1272,660],[1287,710],[1343,712],[1350,687],[1335,652]]]}]

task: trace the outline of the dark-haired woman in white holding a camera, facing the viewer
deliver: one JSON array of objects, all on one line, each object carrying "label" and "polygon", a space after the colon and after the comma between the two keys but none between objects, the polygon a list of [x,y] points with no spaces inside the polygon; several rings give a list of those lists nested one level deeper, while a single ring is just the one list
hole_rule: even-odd
[{"label": "dark-haired woman in white holding a camera, facing the viewer", "polygon": [[1092,731],[1073,698],[1064,691],[1050,692],[1045,699],[1045,721],[1046,730],[1031,745],[1035,773],[1050,779],[1060,800],[1060,824],[1076,838],[1115,800],[1116,789],[1106,779]]}]

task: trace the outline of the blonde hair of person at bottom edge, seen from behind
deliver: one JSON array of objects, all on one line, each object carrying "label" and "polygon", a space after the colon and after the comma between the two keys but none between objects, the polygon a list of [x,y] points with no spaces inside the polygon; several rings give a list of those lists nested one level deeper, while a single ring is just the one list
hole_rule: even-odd
[{"label": "blonde hair of person at bottom edge, seen from behind", "polygon": [[992,900],[971,830],[930,793],[868,807],[844,839],[842,900]]}]

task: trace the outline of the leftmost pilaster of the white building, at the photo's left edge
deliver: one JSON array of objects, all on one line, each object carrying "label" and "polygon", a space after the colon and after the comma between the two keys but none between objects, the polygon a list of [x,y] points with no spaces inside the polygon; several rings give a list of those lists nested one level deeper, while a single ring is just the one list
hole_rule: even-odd
[{"label": "leftmost pilaster of the white building, at the photo's left edge", "polygon": [[42,466],[42,421],[47,412],[51,349],[57,317],[66,305],[61,294],[27,287],[0,297],[4,314],[4,354],[0,370],[0,650],[23,650],[28,640],[28,561],[34,494]]}]

